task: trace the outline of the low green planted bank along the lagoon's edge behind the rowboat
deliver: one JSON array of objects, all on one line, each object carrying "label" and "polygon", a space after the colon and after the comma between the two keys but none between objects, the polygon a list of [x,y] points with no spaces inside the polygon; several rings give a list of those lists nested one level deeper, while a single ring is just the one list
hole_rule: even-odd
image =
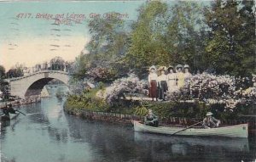
[{"label": "low green planted bank along the lagoon's edge behind the rowboat", "polygon": [[225,109],[224,104],[206,103],[179,103],[179,102],[151,102],[116,100],[114,103],[107,103],[104,99],[96,97],[99,88],[83,92],[82,95],[69,95],[65,103],[65,109],[69,111],[90,110],[106,113],[119,113],[124,115],[146,115],[148,109],[153,109],[154,113],[161,119],[172,117],[185,117],[202,119],[207,111],[212,111],[213,115],[220,120],[236,119],[239,115],[248,115],[253,111],[253,106],[237,105],[236,109]]}]

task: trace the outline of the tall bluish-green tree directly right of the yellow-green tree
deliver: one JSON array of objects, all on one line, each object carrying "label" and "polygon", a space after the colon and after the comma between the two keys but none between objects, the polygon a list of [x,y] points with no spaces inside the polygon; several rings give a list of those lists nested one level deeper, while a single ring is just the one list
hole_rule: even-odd
[{"label": "tall bluish-green tree directly right of the yellow-green tree", "polygon": [[189,64],[192,70],[205,68],[207,25],[201,3],[179,1],[170,7],[166,46],[171,64]]}]

